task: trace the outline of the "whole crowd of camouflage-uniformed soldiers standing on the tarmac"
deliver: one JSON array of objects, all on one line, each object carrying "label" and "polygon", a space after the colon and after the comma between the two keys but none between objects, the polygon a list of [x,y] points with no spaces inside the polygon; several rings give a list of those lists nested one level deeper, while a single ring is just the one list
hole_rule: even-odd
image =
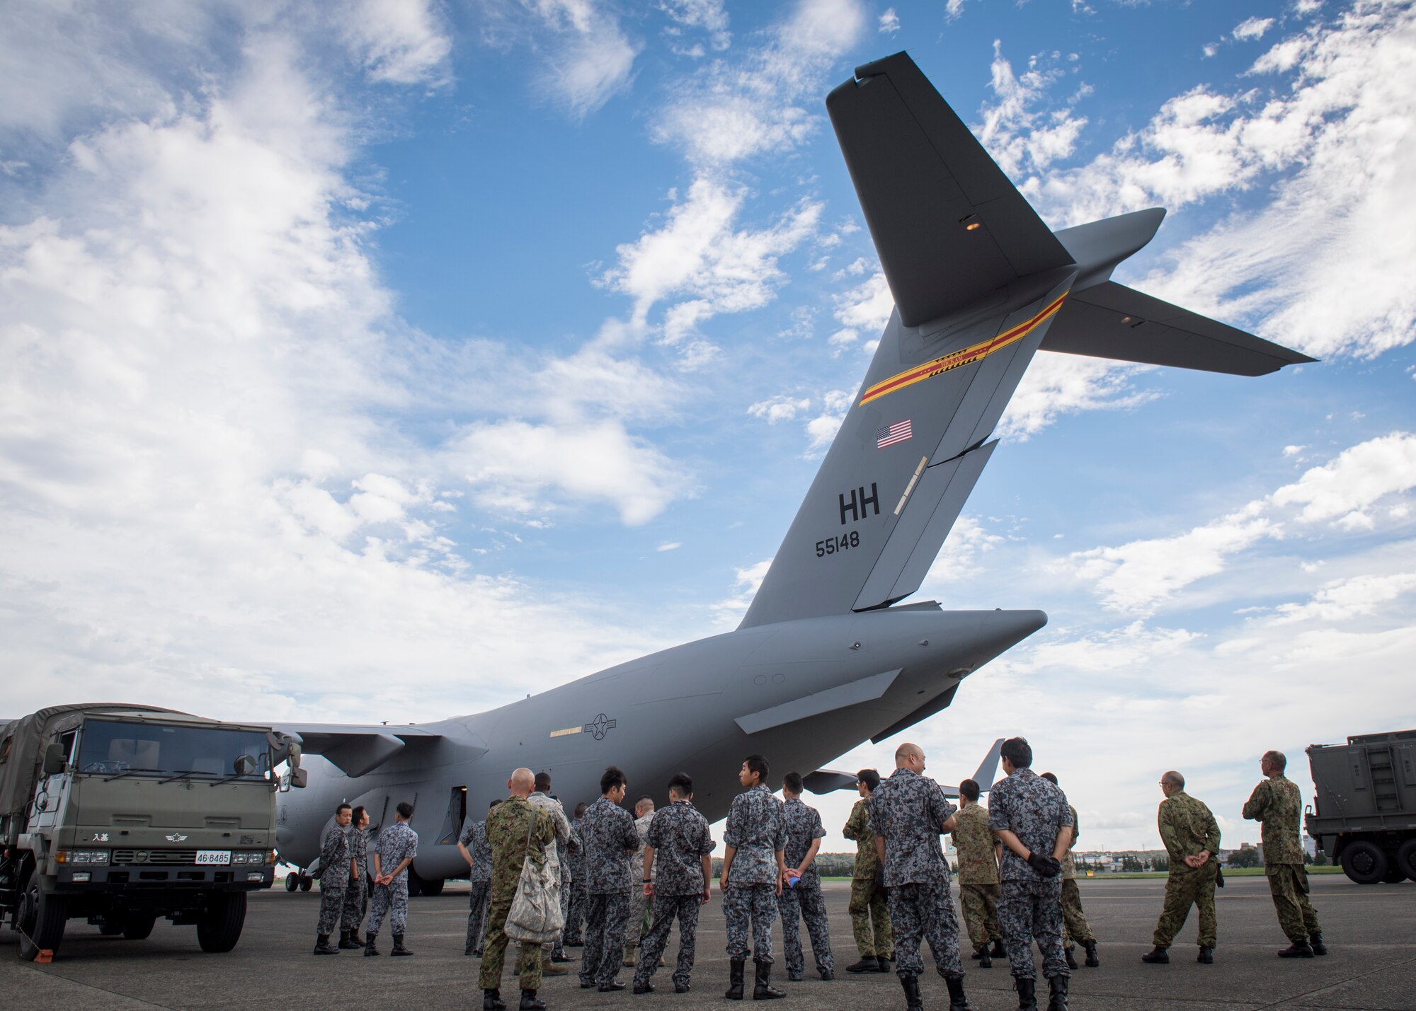
[{"label": "whole crowd of camouflage-uniformed soldiers standing on the tarmac", "polygon": [[[1075,944],[1086,966],[1100,964],[1097,942],[1082,910],[1072,848],[1078,838],[1076,810],[1056,776],[1032,772],[1032,749],[1022,738],[1000,750],[1004,779],[993,784],[988,807],[978,803],[980,784],[964,780],[960,806],[923,776],[925,753],[913,743],[895,752],[895,770],[882,779],[874,769],[858,773],[861,799],[851,810],[844,834],[855,840],[850,916],[860,961],[850,973],[895,974],[908,1011],[922,1011],[919,977],[927,942],[935,966],[949,991],[950,1011],[969,1011],[964,994],[959,923],[950,893],[950,871],[940,838],[950,833],[959,857],[960,905],[973,946],[973,960],[990,969],[1005,957],[1014,977],[1020,1011],[1035,1011],[1037,969],[1032,946],[1042,954],[1048,983],[1048,1011],[1066,1011],[1070,970],[1078,969]],[[1243,816],[1263,824],[1264,861],[1279,920],[1291,942],[1283,957],[1325,954],[1317,913],[1307,899],[1307,876],[1298,835],[1301,797],[1283,775],[1286,759],[1267,752],[1264,773]],[[782,919],[786,974],[801,980],[804,959],[800,922],[804,920],[817,973],[833,980],[826,903],[816,855],[826,830],[820,813],[801,801],[797,773],[782,780],[782,799],[767,784],[769,766],[749,755],[738,770],[743,787],[729,809],[724,830],[719,874],[728,932],[729,984],[725,997],[746,995],[745,969],[755,966],[753,1000],[784,993],[772,986],[772,926]],[[1168,963],[1167,949],[1184,926],[1191,906],[1199,909],[1198,960],[1214,961],[1216,944],[1214,891],[1222,886],[1219,827],[1209,809],[1184,792],[1178,772],[1160,782],[1165,794],[1157,816],[1170,855],[1165,905],[1147,963]],[[695,932],[702,903],[712,898],[714,841],[707,818],[692,804],[692,780],[680,773],[668,784],[668,806],[657,809],[640,797],[634,816],[624,807],[629,782],[610,766],[600,777],[600,797],[565,816],[551,793],[547,773],[517,769],[507,780],[508,796],[493,801],[484,821],[470,823],[459,847],[470,867],[472,909],[464,953],[481,957],[483,1011],[506,1011],[500,981],[508,937],[507,915],[523,865],[530,859],[552,889],[565,915],[565,929],[549,943],[521,943],[517,973],[520,1011],[544,1011],[537,995],[542,974],[564,974],[571,963],[564,947],[583,947],[582,988],[624,990],[616,976],[633,967],[633,993],[654,991],[653,976],[663,966],[673,923],[678,922],[678,957],[671,974],[675,993],[687,993],[695,956]],[[418,837],[406,824],[408,804],[398,821],[381,833],[372,855],[372,912],[364,940],[358,937],[364,895],[361,867],[362,809],[341,804],[321,851],[321,903],[316,954],[337,953],[329,943],[341,923],[338,947],[362,947],[378,954],[375,940],[391,913],[392,954],[411,954],[404,944],[406,869],[416,855]],[[354,826],[350,830],[350,826]],[[636,956],[636,947],[639,949]]]}]

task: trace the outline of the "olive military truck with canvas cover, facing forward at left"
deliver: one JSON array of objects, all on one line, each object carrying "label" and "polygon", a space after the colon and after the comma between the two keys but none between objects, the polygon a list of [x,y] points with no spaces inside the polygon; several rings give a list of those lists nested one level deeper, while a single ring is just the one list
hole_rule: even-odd
[{"label": "olive military truck with canvas cover, facing forward at left", "polygon": [[0,725],[0,919],[20,957],[47,960],[75,918],[136,940],[164,916],[229,952],[246,892],[272,884],[275,794],[304,784],[299,763],[269,726],[149,705]]}]

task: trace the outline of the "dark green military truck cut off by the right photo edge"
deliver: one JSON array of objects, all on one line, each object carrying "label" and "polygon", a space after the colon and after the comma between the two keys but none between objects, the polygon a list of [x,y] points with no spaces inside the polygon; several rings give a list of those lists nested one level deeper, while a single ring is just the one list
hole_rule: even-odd
[{"label": "dark green military truck cut off by the right photo edge", "polygon": [[1311,745],[1306,828],[1359,885],[1416,881],[1416,731]]}]

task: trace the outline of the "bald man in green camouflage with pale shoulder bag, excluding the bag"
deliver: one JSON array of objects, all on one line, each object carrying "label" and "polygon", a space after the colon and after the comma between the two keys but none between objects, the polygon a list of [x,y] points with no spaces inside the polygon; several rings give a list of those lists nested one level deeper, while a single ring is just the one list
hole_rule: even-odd
[{"label": "bald man in green camouflage with pale shoulder bag, excluding the bag", "polygon": [[[539,867],[545,865],[545,848],[555,845],[555,826],[551,816],[535,810],[527,797],[535,786],[530,769],[517,769],[507,780],[511,792],[487,816],[487,841],[491,844],[491,903],[487,909],[487,936],[483,944],[481,1007],[483,1011],[506,1011],[501,1003],[501,963],[507,953],[507,913],[521,879],[521,865],[527,854]],[[541,946],[521,944],[517,960],[521,977],[521,1011],[544,1011],[545,1001],[535,991],[541,988]]]}]

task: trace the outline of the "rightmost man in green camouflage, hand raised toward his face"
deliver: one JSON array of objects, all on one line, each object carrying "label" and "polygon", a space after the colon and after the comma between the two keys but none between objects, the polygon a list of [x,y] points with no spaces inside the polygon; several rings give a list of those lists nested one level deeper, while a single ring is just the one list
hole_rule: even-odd
[{"label": "rightmost man in green camouflage, hand raised toward his face", "polygon": [[1303,794],[1297,784],[1283,775],[1289,760],[1283,752],[1267,752],[1259,767],[1267,776],[1253,789],[1243,806],[1243,816],[1263,823],[1263,869],[1269,878],[1273,905],[1279,910],[1279,926],[1293,942],[1279,952],[1283,959],[1311,959],[1327,954],[1318,913],[1308,902],[1308,872],[1304,868]]}]

